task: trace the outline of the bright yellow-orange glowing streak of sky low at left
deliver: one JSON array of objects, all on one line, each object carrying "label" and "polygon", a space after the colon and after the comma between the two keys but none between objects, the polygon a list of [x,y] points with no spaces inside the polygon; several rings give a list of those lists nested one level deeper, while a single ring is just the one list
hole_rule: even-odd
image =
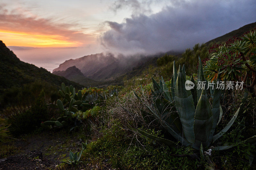
[{"label": "bright yellow-orange glowing streak of sky low at left", "polygon": [[70,41],[60,35],[35,34],[0,30],[1,40],[6,46],[29,46],[29,47],[74,47],[83,43]]}]

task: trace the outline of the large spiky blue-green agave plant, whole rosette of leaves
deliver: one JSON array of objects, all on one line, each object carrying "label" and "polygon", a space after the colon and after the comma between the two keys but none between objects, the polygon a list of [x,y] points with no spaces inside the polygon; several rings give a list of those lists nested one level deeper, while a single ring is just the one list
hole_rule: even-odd
[{"label": "large spiky blue-green agave plant, whole rosette of leaves", "polygon": [[[206,81],[200,57],[198,65],[198,81]],[[226,127],[224,127],[220,132],[214,134],[215,128],[222,117],[222,109],[220,106],[221,89],[218,89],[215,86],[214,91],[212,91],[213,99],[211,106],[207,96],[208,94],[211,96],[210,91],[197,89],[192,75],[190,81],[195,84],[193,89],[186,90],[185,81],[185,66],[183,65],[183,68],[179,67],[177,72],[174,61],[171,93],[166,87],[163,78],[160,80],[159,84],[152,78],[154,88],[154,90],[151,89],[154,103],[153,109],[146,104],[149,112],[145,110],[142,111],[144,120],[151,121],[152,119],[156,119],[161,123],[162,127],[176,139],[176,141],[174,142],[165,138],[159,138],[140,129],[136,129],[136,131],[148,138],[152,138],[153,140],[172,147],[176,147],[177,142],[179,141],[178,146],[191,145],[196,150],[209,148],[209,146],[212,146],[217,139],[228,131],[234,123],[237,115],[242,112],[244,102],[248,96],[248,91],[245,89],[242,103]],[[220,74],[218,75],[217,81],[220,81]],[[208,82],[206,83],[206,88],[208,86],[207,84]],[[135,95],[140,99],[136,93]],[[248,138],[244,142],[250,144],[256,143],[256,135]],[[225,150],[235,145],[236,144],[229,146],[216,146],[213,150]]]}]

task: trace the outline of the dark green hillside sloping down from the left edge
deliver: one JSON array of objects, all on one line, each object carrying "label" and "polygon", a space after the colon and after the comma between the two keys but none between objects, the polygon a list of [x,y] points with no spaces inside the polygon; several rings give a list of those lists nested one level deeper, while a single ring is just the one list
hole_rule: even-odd
[{"label": "dark green hillside sloping down from the left edge", "polygon": [[22,87],[23,84],[34,81],[47,81],[52,85],[60,86],[62,82],[72,84],[76,88],[83,86],[68,79],[54,75],[44,68],[20,61],[19,58],[0,41],[0,91],[13,86]]}]

